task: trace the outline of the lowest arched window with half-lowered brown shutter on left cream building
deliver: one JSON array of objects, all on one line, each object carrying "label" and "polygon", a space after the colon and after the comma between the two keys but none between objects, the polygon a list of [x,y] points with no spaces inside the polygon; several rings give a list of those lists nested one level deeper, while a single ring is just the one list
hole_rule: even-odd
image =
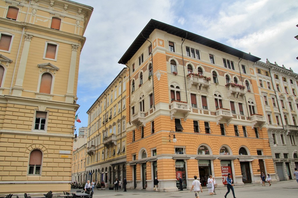
[{"label": "lowest arched window with half-lowered brown shutter on left cream building", "polygon": [[42,152],[34,149],[30,153],[28,175],[41,175]]}]

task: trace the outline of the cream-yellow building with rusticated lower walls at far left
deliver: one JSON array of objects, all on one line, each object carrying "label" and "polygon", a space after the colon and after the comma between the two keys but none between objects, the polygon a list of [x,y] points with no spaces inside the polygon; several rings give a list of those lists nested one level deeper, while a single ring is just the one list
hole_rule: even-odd
[{"label": "cream-yellow building with rusticated lower walls at far left", "polygon": [[0,1],[0,194],[70,190],[80,51],[92,11],[68,0]]}]

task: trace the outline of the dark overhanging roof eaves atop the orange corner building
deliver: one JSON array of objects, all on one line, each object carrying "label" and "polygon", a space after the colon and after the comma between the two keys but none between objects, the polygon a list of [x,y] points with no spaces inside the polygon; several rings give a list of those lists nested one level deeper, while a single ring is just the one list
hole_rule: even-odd
[{"label": "dark overhanging roof eaves atop the orange corner building", "polygon": [[[186,30],[162,23],[160,21],[156,21],[154,19],[151,19],[149,21],[149,23],[144,27],[144,29],[141,31],[141,33],[137,36],[137,38],[134,40],[134,42],[131,44],[131,46],[129,46],[129,48],[126,50],[126,52],[123,54],[123,56],[121,57],[121,59],[118,61],[119,64],[126,64],[133,56],[134,54],[139,50],[139,48],[145,43],[146,39],[145,38],[149,38],[150,34],[155,30],[155,29],[159,29],[162,31],[165,31],[169,34],[181,37],[181,38],[185,38],[185,36],[187,35],[187,40],[211,47],[213,49],[219,50],[221,52],[225,52],[228,54],[231,54],[233,56],[242,58],[243,54],[244,57],[243,59],[245,60],[249,60],[252,62],[257,62],[258,60],[261,60],[258,57],[255,57],[251,54],[247,54],[245,52],[242,52],[238,49],[226,46],[222,43],[218,43],[214,40],[202,37],[200,35],[196,35],[192,32],[188,32]],[[145,37],[143,37],[143,36]]]}]

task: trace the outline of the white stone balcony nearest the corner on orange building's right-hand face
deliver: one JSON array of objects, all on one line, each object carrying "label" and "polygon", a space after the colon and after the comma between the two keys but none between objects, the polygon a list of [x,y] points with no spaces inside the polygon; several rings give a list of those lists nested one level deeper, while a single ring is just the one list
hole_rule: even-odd
[{"label": "white stone balcony nearest the corner on orange building's right-hand face", "polygon": [[174,100],[170,103],[169,107],[171,120],[173,120],[176,116],[183,116],[184,121],[186,121],[187,116],[190,113],[190,107],[188,103]]}]

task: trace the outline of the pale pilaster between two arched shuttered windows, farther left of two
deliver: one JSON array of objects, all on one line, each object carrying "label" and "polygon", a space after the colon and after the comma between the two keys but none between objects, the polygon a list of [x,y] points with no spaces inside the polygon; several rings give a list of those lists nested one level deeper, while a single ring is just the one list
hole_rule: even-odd
[{"label": "pale pilaster between two arched shuttered windows, farther left of two", "polygon": [[21,59],[18,67],[17,78],[15,81],[15,85],[13,87],[13,95],[17,95],[17,96],[22,95],[23,81],[24,81],[27,59],[29,54],[30,41],[33,37],[32,35],[29,35],[29,34],[24,34],[24,36],[25,36],[25,41],[24,41],[23,51],[22,51],[22,55],[21,55]]}]

